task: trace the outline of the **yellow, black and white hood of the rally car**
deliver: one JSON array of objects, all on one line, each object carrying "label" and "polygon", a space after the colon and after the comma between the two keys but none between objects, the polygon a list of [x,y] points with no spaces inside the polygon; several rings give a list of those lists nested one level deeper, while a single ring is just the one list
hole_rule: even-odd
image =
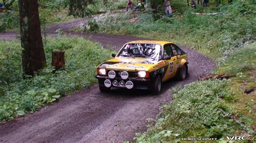
[{"label": "yellow, black and white hood of the rally car", "polygon": [[99,65],[99,67],[104,67],[106,69],[112,70],[149,70],[158,61],[147,58],[114,58],[108,60]]}]

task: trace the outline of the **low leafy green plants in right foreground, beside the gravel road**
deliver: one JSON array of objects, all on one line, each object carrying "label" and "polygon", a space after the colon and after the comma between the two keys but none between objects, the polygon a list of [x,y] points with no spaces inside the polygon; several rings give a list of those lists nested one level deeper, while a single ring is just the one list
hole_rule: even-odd
[{"label": "low leafy green plants in right foreground, beside the gravel road", "polygon": [[137,142],[169,142],[180,138],[221,138],[234,135],[240,127],[220,109],[235,113],[220,99],[232,101],[227,87],[230,81],[209,80],[187,84],[173,97],[171,103],[161,106],[161,117],[147,132],[136,135]]}]

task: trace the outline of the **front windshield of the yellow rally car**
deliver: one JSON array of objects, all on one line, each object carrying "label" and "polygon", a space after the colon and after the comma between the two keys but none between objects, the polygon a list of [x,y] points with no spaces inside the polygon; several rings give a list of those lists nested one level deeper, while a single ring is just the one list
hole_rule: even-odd
[{"label": "front windshield of the yellow rally car", "polygon": [[157,44],[126,44],[118,53],[118,57],[161,58],[161,46]]}]

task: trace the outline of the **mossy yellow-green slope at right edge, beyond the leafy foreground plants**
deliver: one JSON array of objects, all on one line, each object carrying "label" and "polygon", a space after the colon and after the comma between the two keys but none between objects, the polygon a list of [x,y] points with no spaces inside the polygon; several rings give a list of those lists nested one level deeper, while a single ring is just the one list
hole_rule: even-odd
[{"label": "mossy yellow-green slope at right edge, beyond the leafy foreground plants", "polygon": [[[230,107],[239,111],[239,120],[245,123],[248,128],[256,126],[256,106],[255,106],[255,92],[244,94],[246,89],[256,87],[256,43],[246,45],[231,53],[218,66],[214,73],[219,74],[235,74],[232,78],[231,89],[235,92],[234,102],[228,103]],[[253,134],[252,130],[248,133]],[[255,134],[255,131],[254,131]]]}]

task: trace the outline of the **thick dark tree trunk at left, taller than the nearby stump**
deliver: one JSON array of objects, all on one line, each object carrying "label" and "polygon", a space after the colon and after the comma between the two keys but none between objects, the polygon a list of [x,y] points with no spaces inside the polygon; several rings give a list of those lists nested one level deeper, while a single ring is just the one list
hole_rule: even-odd
[{"label": "thick dark tree trunk at left, taller than the nearby stump", "polygon": [[26,75],[46,66],[37,0],[19,0],[22,66]]}]

